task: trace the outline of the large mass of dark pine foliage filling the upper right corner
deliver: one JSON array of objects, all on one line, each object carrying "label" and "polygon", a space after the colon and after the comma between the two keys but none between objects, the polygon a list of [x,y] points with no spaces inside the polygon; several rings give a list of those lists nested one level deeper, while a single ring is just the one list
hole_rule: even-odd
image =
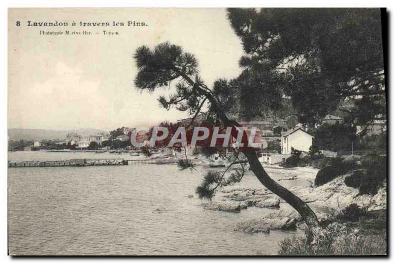
[{"label": "large mass of dark pine foliage filling the upper right corner", "polygon": [[246,55],[235,80],[243,115],[263,115],[290,98],[302,123],[342,102],[350,123],[386,119],[379,9],[229,9]]}]

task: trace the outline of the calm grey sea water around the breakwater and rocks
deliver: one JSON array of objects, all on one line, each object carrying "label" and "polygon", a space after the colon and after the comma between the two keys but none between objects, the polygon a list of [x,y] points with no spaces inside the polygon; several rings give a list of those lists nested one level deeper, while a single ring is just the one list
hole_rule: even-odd
[{"label": "calm grey sea water around the breakwater and rocks", "polygon": [[[127,158],[108,153],[13,152],[10,161]],[[134,157],[135,158],[135,157]],[[8,169],[11,255],[256,255],[276,254],[299,231],[244,233],[237,222],[272,211],[204,210],[194,194],[203,167],[176,165],[20,167]],[[273,169],[278,179],[285,174]],[[308,184],[280,181],[285,186]],[[235,187],[261,188],[251,174]],[[194,195],[195,197],[188,197]]]}]

